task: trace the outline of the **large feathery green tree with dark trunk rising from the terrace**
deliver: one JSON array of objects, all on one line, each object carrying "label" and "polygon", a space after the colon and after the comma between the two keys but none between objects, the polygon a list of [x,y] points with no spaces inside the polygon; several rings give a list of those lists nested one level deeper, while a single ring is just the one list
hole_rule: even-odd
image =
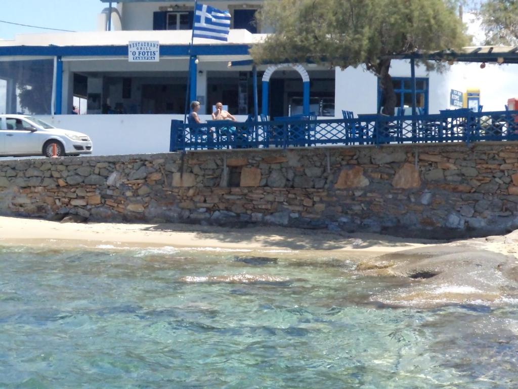
[{"label": "large feathery green tree with dark trunk rising from the terrace", "polygon": [[[380,79],[383,113],[394,115],[391,56],[467,43],[448,0],[266,0],[258,20],[275,33],[250,53],[256,63],[364,64]],[[430,70],[436,63],[421,61]]]}]

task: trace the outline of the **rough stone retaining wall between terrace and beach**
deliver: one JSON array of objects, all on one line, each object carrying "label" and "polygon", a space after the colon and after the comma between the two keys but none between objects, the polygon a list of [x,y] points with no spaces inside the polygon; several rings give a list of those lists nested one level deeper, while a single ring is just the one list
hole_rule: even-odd
[{"label": "rough stone retaining wall between terrace and beach", "polygon": [[8,160],[0,162],[0,214],[501,233],[518,228],[518,143]]}]

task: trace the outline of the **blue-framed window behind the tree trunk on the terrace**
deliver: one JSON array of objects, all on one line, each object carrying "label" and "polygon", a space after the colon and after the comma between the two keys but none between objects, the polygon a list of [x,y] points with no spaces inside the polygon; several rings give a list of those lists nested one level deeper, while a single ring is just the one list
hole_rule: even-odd
[{"label": "blue-framed window behind the tree trunk on the terrace", "polygon": [[[396,93],[396,114],[397,108],[405,109],[405,115],[412,115],[412,78],[392,77],[394,93]],[[424,114],[428,114],[428,78],[415,78],[415,106],[422,108]],[[378,112],[383,108],[383,91],[378,79]]]}]

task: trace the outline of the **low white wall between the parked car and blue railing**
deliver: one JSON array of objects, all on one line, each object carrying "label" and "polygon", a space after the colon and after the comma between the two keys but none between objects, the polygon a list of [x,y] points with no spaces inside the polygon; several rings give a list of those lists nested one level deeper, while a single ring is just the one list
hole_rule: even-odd
[{"label": "low white wall between the parked car and blue railing", "polygon": [[[183,115],[56,115],[38,116],[57,128],[90,136],[92,155],[169,152],[171,119]],[[202,121],[210,115],[200,115]],[[244,121],[246,116],[236,116]]]}]

